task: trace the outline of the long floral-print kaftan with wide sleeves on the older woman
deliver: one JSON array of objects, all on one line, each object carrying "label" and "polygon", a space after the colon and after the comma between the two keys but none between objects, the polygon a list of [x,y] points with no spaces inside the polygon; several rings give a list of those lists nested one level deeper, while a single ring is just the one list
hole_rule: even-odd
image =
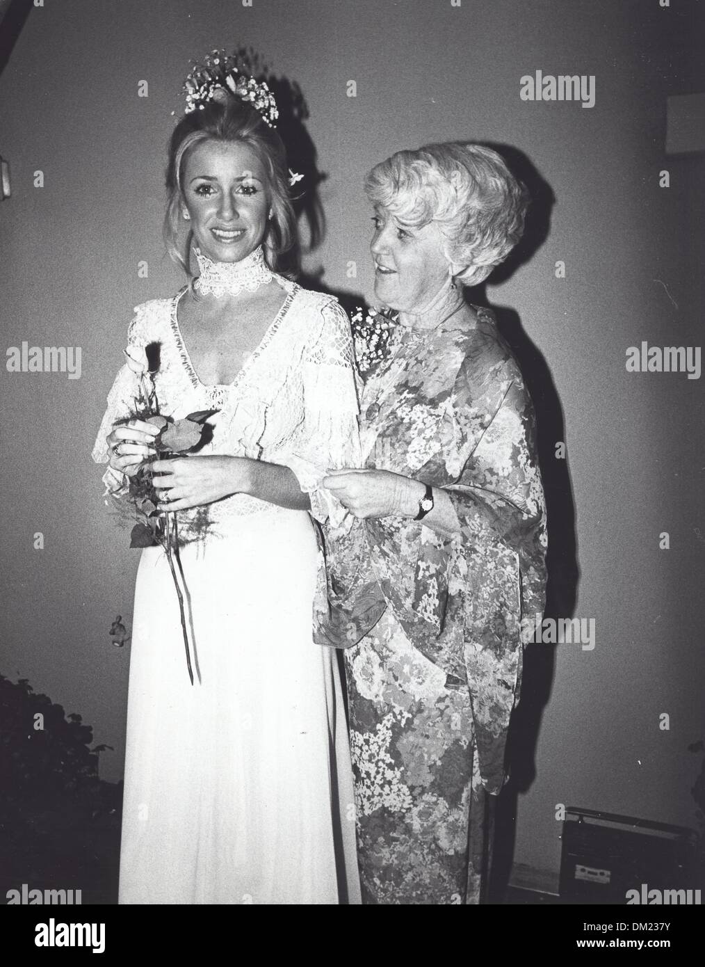
[{"label": "long floral-print kaftan with wide sleeves on the older woman", "polygon": [[522,644],[543,611],[534,413],[491,312],[399,324],[366,374],[367,467],[451,497],[453,538],[390,516],[327,546],[317,638],[346,648],[363,901],[478,903]]}]

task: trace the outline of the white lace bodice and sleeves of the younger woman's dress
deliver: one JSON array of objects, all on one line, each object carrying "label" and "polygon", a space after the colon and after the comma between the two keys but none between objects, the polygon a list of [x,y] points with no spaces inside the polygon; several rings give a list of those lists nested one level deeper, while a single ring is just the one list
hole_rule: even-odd
[{"label": "white lace bodice and sleeves of the younger woman's dress", "polygon": [[[346,513],[321,481],[329,469],[361,465],[349,322],[332,296],[274,278],[286,299],[229,386],[203,384],[191,365],[176,316],[186,289],[137,306],[128,344],[143,348],[160,343],[155,384],[163,413],[177,419],[195,410],[220,410],[211,421],[213,440],[201,454],[247,456],[290,467],[310,496],[312,515],[319,522],[330,518],[337,526]],[[129,415],[135,390],[134,374],[123,366],[107,397],[93,450],[97,462],[107,461],[105,437]],[[103,483],[115,490],[125,478],[108,468]],[[210,505],[209,511],[217,523],[242,514],[278,513],[279,508],[234,494]]]}]

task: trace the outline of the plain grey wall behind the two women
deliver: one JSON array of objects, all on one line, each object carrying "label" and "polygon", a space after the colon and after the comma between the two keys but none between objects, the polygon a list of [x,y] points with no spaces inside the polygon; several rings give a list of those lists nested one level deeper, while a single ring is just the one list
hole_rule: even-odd
[{"label": "plain grey wall behind the two women", "polygon": [[[2,333],[5,348],[81,346],[83,372],[2,369],[0,671],[28,678],[115,746],[103,777],[122,775],[129,662],[107,630],[117,613],[131,615],[138,552],[106,516],[90,450],[132,307],[182,283],[162,251],[162,167],[189,60],[251,43],[307,97],[329,175],[328,234],[307,265],[334,288],[372,298],[361,179],[401,147],[514,145],[551,186],[547,241],[487,295],[518,312],[562,402],[581,569],[575,615],[595,619],[597,644],[555,650],[514,860],[555,873],[559,803],[695,825],[702,380],[625,369],[626,348],[641,340],[702,341],[701,160],[663,155],[666,95],[705,88],[693,73],[700,7],[672,6],[45,0],[32,11],[0,76],[0,154],[14,192],[0,207]],[[520,76],[537,69],[594,74],[595,107],[520,101]],[[137,97],[142,79],[148,98]],[[356,99],[345,95],[349,79]],[[33,187],[37,169],[43,189]],[[565,279],[554,276],[559,259]],[[346,278],[350,260],[356,279]],[[33,549],[37,531],[44,550]],[[659,549],[662,531],[670,550]]]}]

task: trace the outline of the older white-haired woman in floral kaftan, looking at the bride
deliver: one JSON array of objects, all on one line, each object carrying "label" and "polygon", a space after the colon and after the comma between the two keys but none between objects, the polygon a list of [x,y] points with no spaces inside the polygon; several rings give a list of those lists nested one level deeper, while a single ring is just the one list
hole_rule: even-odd
[{"label": "older white-haired woman in floral kaftan, looking at the bride", "polygon": [[459,142],[398,152],[366,191],[387,311],[360,354],[365,469],[324,481],[357,520],[319,639],[348,649],[364,902],[478,903],[545,521],[531,401],[462,287],[514,247],[526,195]]}]

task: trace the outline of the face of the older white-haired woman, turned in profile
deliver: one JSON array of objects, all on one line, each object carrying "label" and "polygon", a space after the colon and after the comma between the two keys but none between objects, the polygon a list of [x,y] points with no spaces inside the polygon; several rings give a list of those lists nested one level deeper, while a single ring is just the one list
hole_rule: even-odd
[{"label": "face of the older white-haired woman, turned in profile", "polygon": [[374,294],[389,308],[423,312],[449,281],[443,236],[434,221],[413,228],[385,208],[375,206],[374,235],[369,246],[374,260]]}]

